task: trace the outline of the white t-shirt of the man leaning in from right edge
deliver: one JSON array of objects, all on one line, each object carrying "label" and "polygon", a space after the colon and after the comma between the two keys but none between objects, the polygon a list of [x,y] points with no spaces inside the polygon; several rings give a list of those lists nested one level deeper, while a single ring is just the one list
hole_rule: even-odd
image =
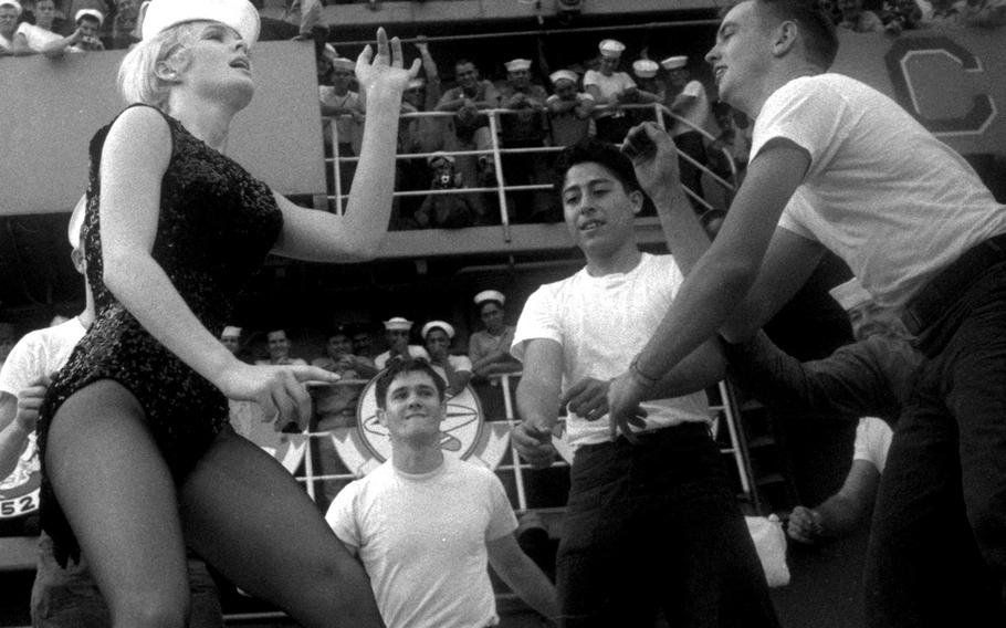
[{"label": "white t-shirt of the man leaning in from right edge", "polygon": [[751,158],[776,137],[810,168],[779,226],[837,253],[880,305],[900,308],[968,248],[1006,232],[1006,208],[897,103],[848,76],[795,78],[762,107]]}]

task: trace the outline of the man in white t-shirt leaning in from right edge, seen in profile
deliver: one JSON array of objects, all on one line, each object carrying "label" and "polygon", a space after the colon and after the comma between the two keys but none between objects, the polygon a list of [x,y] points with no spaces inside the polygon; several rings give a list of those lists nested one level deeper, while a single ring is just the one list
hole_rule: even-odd
[{"label": "man in white t-shirt leaning in from right edge, seen in profile", "polygon": [[[831,250],[901,312],[928,358],[881,480],[868,620],[1003,626],[1006,209],[895,103],[827,73],[837,46],[834,25],[801,0],[746,0],[724,18],[706,60],[721,98],[755,119],[747,176],[609,402],[625,423],[653,379],[717,332],[750,336]],[[658,130],[635,133],[660,210],[677,186],[673,153]],[[662,213],[672,240],[694,221],[679,213]]]}]

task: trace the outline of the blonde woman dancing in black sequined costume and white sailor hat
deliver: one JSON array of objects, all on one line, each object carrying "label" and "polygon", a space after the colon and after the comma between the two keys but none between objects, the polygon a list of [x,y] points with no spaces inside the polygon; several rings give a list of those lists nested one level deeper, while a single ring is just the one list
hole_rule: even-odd
[{"label": "blonde woman dancing in black sequined costume and white sailor hat", "polygon": [[[254,94],[247,0],[153,0],[124,59],[126,108],[91,144],[83,241],[97,316],[41,412],[43,527],[83,551],[115,627],[184,626],[185,546],[303,626],[380,626],[359,565],[289,473],[228,425],[227,399],[281,423],[312,366],[253,366],[217,341],[270,252],[366,259],[391,206],[401,93],[418,63],[378,31],[356,75],[371,103],[345,216],[305,210],[222,151]],[[358,190],[358,192],[357,192]]]}]

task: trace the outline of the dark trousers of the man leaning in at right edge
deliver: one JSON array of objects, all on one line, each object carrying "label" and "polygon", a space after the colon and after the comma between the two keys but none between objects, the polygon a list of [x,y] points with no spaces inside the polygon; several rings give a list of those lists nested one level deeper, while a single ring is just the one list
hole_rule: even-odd
[{"label": "dark trousers of the man leaning in at right edge", "polygon": [[876,628],[1006,626],[1006,247],[985,249],[907,310],[926,360],[873,513]]}]

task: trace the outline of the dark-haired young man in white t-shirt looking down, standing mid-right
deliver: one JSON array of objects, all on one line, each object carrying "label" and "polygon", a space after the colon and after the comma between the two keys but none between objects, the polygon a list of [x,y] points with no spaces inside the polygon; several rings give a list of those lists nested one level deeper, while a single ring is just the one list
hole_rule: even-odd
[{"label": "dark-haired young man in white t-shirt looking down, standing mid-right", "polygon": [[[632,166],[611,144],[585,140],[557,165],[569,233],[587,258],[524,305],[511,353],[524,364],[514,443],[536,468],[555,453],[566,406],[574,450],[556,561],[564,626],[778,626],[765,575],[719,449],[703,390],[723,376],[709,343],[641,404],[630,442],[615,439],[605,394],[673,302],[670,255],[636,243],[642,208]],[[680,202],[685,207],[683,195]],[[691,211],[689,209],[689,211]]]}]

